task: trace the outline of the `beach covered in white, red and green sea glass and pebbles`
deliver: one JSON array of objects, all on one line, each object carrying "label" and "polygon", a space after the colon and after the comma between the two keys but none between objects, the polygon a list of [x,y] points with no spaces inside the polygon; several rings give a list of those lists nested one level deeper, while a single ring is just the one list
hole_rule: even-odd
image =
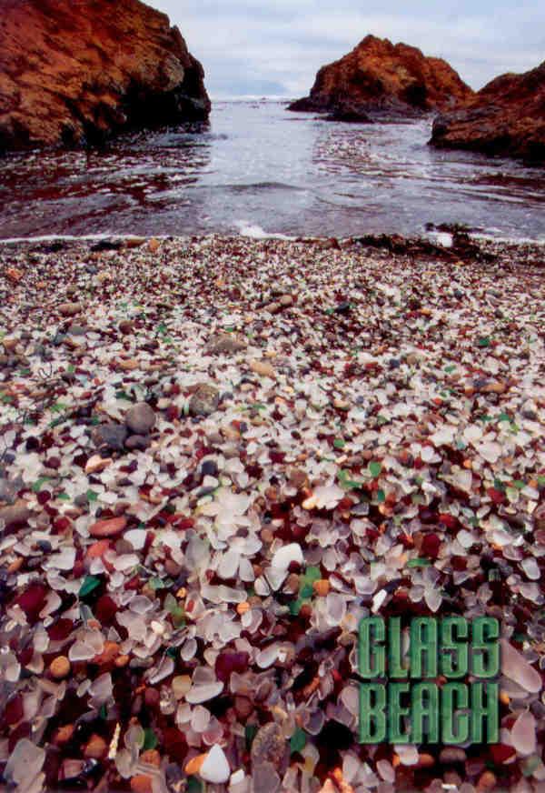
[{"label": "beach covered in white, red and green sea glass and pebbles", "polygon": [[[541,789],[543,262],[0,246],[5,782]],[[500,744],[358,745],[370,613],[500,618]]]}]

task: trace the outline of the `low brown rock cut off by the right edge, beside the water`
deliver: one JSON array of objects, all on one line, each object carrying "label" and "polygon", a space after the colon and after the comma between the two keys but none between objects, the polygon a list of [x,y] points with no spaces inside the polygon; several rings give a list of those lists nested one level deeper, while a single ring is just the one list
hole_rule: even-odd
[{"label": "low brown rock cut off by the right edge, beside the water", "polygon": [[545,162],[545,62],[496,77],[466,107],[439,115],[431,144]]}]

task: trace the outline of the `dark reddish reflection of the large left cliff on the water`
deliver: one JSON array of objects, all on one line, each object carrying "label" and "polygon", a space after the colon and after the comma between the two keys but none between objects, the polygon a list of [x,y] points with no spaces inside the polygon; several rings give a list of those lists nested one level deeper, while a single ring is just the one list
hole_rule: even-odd
[{"label": "dark reddish reflection of the large left cliff on the water", "polygon": [[0,161],[0,236],[135,233],[146,210],[172,211],[210,166],[213,134],[194,125],[74,151]]}]

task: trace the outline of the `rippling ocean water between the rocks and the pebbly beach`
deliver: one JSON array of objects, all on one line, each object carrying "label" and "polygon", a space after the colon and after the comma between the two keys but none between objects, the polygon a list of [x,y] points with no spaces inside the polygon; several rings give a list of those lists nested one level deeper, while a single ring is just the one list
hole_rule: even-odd
[{"label": "rippling ocean water between the rocks and the pebbly beach", "polygon": [[280,101],[216,102],[210,125],[0,160],[0,239],[421,235],[545,242],[545,168],[436,151],[431,118],[331,123]]}]

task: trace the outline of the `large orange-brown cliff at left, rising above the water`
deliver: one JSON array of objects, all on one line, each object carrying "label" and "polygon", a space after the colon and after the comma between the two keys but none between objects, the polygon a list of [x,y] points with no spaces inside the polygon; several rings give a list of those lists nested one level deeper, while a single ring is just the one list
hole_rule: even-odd
[{"label": "large orange-brown cliff at left, rising above the water", "polygon": [[205,119],[203,76],[138,0],[0,0],[0,150]]}]

